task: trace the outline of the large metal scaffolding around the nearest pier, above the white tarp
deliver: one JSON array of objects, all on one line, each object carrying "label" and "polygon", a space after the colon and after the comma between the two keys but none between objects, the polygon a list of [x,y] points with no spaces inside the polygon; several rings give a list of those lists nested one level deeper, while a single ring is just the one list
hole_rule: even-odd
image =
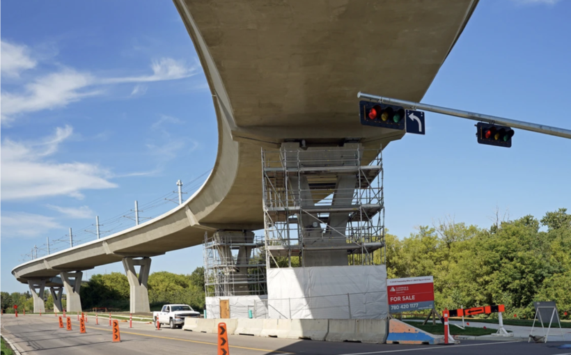
[{"label": "large metal scaffolding around the nearest pier, above the white tarp", "polygon": [[384,263],[380,149],[283,145],[262,168],[268,267]]}]

